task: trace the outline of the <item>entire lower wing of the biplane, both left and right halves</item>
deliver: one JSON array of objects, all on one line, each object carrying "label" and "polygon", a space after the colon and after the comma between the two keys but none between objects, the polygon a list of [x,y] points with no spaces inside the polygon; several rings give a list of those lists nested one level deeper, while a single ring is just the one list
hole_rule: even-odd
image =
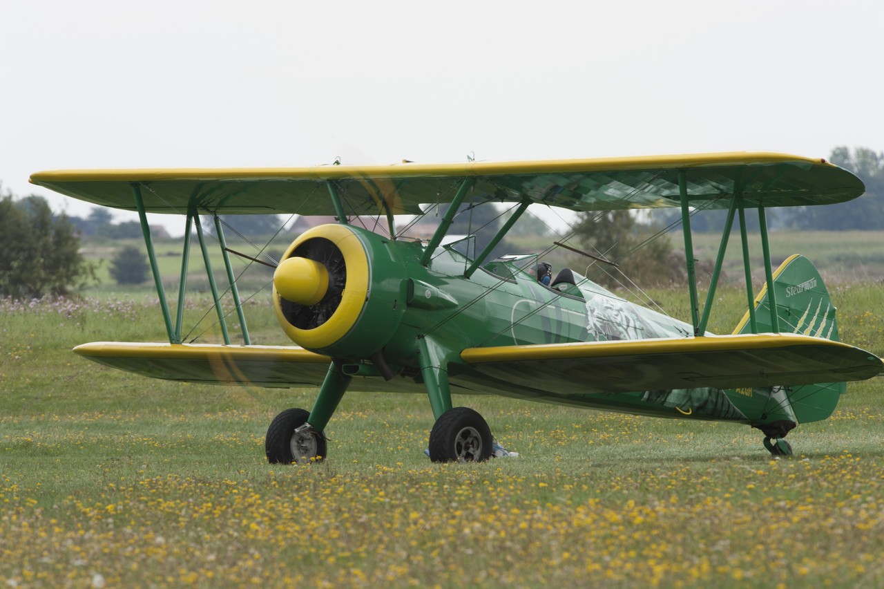
[{"label": "entire lower wing of the biplane, both left and right halves", "polygon": [[[331,363],[328,356],[286,346],[100,341],[74,351],[155,379],[230,385],[319,386]],[[469,348],[461,358],[481,377],[552,397],[701,386],[797,386],[869,379],[884,371],[880,358],[862,349],[791,333]],[[455,386],[475,387],[469,382],[476,379],[458,372],[466,378],[453,374]],[[420,392],[422,387],[411,379],[356,378],[352,390]]]}]

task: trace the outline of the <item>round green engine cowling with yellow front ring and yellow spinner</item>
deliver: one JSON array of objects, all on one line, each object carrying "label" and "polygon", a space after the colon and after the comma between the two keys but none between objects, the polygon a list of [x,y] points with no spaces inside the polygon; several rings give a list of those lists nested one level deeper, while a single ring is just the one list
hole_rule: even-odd
[{"label": "round green engine cowling with yellow front ring and yellow spinner", "polygon": [[406,310],[407,275],[384,237],[346,225],[309,229],[273,276],[273,306],[302,348],[343,359],[381,350]]}]

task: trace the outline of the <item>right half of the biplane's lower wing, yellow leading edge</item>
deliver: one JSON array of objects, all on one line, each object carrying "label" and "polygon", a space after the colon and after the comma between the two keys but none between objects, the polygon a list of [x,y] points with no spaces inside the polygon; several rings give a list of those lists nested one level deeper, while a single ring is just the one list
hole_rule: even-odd
[{"label": "right half of the biplane's lower wing, yellow leading edge", "polygon": [[553,395],[799,386],[884,371],[865,350],[794,333],[469,348],[461,358],[489,379]]}]

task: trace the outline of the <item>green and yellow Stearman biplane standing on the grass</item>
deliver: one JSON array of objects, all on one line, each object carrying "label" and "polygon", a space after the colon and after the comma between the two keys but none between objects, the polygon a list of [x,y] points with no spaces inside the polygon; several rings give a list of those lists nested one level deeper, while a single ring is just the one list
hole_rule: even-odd
[{"label": "green and yellow Stearman biplane standing on the grass", "polygon": [[[842,203],[863,183],[825,160],[773,153],[721,153],[513,163],[327,165],[293,169],[41,172],[34,184],[88,203],[137,211],[169,341],[96,342],[80,356],[157,378],[260,386],[318,386],[309,411],[271,423],[271,463],[325,457],[325,426],[347,390],[426,394],[435,417],[431,460],[481,461],[492,434],[452,393],[656,417],[751,425],[773,455],[797,424],[826,419],[845,382],[879,375],[874,354],[839,341],[835,309],[803,256],[774,270],[770,207]],[[512,214],[482,251],[449,233],[465,203],[511,203]],[[400,215],[447,204],[425,239],[397,233]],[[537,276],[537,256],[489,259],[531,204],[572,211],[679,207],[691,323],[614,295],[572,269]],[[713,278],[698,301],[690,210],[727,210]],[[751,287],[745,211],[757,210],[766,285]],[[166,302],[147,213],[185,218],[178,306]],[[301,233],[273,277],[279,324],[296,346],[249,341],[219,215],[334,215]],[[383,231],[352,221],[377,216]],[[224,344],[184,343],[181,320],[191,233],[209,264],[200,216],[215,218],[244,343],[231,343],[209,270]],[[707,332],[735,217],[740,220],[748,311],[733,334]],[[384,222],[385,221],[385,222]],[[462,243],[461,243],[462,245]],[[544,274],[545,272],[540,272]],[[173,312],[177,311],[177,312]],[[173,316],[175,317],[173,320]]]}]

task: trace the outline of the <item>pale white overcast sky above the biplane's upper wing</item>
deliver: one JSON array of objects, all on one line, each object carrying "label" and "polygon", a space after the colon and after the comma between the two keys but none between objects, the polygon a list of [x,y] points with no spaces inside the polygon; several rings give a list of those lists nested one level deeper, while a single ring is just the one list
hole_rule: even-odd
[{"label": "pale white overcast sky above the biplane's upper wing", "polygon": [[882,6],[4,1],[0,180],[83,215],[28,176],[880,151]]}]

